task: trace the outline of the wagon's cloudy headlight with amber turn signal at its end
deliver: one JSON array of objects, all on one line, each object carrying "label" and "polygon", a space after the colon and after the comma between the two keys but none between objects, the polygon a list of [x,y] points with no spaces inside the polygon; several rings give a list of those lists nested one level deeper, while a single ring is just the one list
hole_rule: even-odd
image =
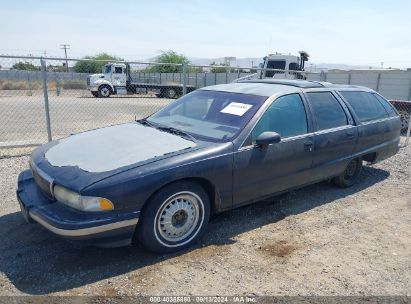
[{"label": "wagon's cloudy headlight with amber turn signal at its end", "polygon": [[81,211],[109,211],[113,210],[113,203],[103,197],[81,196],[80,194],[55,185],[53,194],[56,200]]}]

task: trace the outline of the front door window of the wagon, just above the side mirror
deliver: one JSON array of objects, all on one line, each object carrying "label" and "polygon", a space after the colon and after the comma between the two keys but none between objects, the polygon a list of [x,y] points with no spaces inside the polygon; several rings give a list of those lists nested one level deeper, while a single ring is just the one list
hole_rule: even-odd
[{"label": "front door window of the wagon, just above the side mirror", "polygon": [[269,131],[277,132],[282,138],[307,133],[307,117],[299,94],[279,97],[270,105],[252,132],[252,142]]}]

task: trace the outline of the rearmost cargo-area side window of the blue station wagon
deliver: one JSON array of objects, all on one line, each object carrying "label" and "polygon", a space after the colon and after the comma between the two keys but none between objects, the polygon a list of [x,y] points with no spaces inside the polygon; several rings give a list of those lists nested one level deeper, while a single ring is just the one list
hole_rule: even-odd
[{"label": "rearmost cargo-area side window of the blue station wagon", "polygon": [[361,122],[388,117],[387,111],[373,94],[353,91],[341,91],[340,93]]}]

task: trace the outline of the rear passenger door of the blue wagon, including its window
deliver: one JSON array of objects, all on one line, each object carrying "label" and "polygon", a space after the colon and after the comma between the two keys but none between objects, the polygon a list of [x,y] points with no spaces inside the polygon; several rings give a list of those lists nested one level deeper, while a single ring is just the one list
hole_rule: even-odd
[{"label": "rear passenger door of the blue wagon, including its window", "polygon": [[316,130],[311,174],[315,182],[344,171],[358,133],[347,106],[333,92],[308,92],[306,96]]}]

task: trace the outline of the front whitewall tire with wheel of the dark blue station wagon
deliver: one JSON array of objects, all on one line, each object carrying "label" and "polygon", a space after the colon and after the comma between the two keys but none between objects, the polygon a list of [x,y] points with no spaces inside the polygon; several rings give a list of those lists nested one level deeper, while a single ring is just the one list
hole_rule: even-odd
[{"label": "front whitewall tire with wheel of the dark blue station wagon", "polygon": [[146,203],[136,235],[149,251],[175,252],[194,244],[204,234],[209,218],[206,191],[193,182],[176,182]]}]

